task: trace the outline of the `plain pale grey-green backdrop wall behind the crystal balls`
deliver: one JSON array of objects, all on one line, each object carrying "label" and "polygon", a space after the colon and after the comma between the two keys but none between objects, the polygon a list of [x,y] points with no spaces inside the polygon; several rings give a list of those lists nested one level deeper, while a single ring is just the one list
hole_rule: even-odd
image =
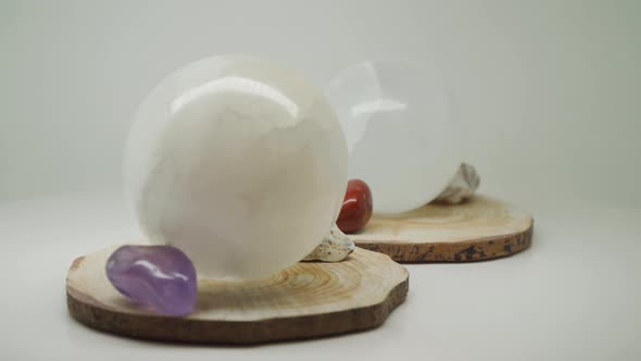
[{"label": "plain pale grey-green backdrop wall behind the crystal balls", "polygon": [[641,204],[640,1],[0,1],[0,200],[120,187],[168,72],[252,53],[318,86],[435,58],[483,189],[527,208]]}]

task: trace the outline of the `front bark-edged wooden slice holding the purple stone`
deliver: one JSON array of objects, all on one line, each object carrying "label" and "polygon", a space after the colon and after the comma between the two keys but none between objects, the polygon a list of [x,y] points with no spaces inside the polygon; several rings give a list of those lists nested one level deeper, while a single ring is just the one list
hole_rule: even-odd
[{"label": "front bark-edged wooden slice holding the purple stone", "polygon": [[199,279],[196,312],[162,316],[137,308],[106,279],[104,264],[116,248],[74,261],[68,312],[90,327],[138,338],[257,344],[362,331],[380,325],[409,287],[403,266],[356,248],[342,262],[301,262],[264,279]]}]

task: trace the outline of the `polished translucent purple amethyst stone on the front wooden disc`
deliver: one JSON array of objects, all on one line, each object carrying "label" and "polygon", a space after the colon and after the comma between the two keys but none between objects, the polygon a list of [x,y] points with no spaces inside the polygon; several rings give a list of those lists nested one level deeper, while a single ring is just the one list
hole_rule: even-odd
[{"label": "polished translucent purple amethyst stone on the front wooden disc", "polygon": [[121,294],[158,313],[181,316],[196,307],[196,270],[175,247],[123,246],[106,261],[106,277]]}]

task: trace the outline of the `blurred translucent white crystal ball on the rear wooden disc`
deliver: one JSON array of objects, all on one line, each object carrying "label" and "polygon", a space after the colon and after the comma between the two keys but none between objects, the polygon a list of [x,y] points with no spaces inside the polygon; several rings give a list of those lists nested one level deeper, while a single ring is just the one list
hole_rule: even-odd
[{"label": "blurred translucent white crystal ball on the rear wooden disc", "polygon": [[349,177],[372,189],[374,212],[433,200],[461,165],[460,126],[439,72],[404,61],[367,61],[325,89],[348,138]]}]

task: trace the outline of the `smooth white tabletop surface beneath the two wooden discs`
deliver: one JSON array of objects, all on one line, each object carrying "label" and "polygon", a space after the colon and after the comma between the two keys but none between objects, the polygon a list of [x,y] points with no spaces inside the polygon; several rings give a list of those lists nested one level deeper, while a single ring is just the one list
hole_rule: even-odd
[{"label": "smooth white tabletop surface beneath the two wooden discs", "polygon": [[239,348],[122,338],[67,315],[72,260],[138,236],[118,194],[0,204],[0,359],[639,360],[641,210],[533,215],[523,253],[406,265],[407,300],[377,329]]}]

